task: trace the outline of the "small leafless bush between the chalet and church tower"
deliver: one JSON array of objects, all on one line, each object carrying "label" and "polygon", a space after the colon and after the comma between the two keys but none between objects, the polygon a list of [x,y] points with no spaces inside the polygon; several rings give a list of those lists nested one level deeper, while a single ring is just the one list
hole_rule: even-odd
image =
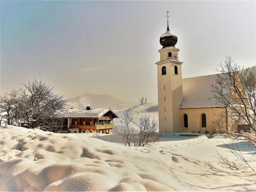
[{"label": "small leafless bush between the chalet and church tower", "polygon": [[129,109],[119,115],[115,133],[123,137],[124,145],[151,146],[160,139],[160,135],[156,134],[157,125],[157,121],[150,120],[150,116],[134,116]]}]

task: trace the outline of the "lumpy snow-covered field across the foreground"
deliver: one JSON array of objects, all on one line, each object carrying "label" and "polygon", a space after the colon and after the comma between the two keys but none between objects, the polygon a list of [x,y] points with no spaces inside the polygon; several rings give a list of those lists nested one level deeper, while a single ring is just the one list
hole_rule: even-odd
[{"label": "lumpy snow-covered field across the foreground", "polygon": [[[251,190],[256,175],[208,159],[217,139],[165,135],[151,148],[5,126],[0,190]],[[168,139],[169,138],[169,139]],[[213,143],[210,143],[210,142]],[[210,146],[212,144],[212,146]],[[203,151],[206,145],[209,152]],[[195,154],[197,152],[197,154]]]}]

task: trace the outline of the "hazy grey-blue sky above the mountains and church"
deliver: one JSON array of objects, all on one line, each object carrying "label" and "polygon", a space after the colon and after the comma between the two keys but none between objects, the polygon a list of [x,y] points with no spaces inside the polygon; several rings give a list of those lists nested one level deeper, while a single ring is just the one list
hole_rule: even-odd
[{"label": "hazy grey-blue sky above the mountains and church", "polygon": [[255,1],[1,1],[1,93],[36,78],[67,98],[156,101],[166,10],[183,78],[216,73],[225,55],[255,65]]}]

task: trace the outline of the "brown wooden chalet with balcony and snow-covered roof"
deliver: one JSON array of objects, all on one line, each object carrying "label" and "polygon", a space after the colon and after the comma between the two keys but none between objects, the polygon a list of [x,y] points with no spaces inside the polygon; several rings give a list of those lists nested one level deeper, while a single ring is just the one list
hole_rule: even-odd
[{"label": "brown wooden chalet with balcony and snow-covered roof", "polygon": [[69,109],[63,114],[70,133],[111,133],[113,119],[118,116],[111,109]]}]

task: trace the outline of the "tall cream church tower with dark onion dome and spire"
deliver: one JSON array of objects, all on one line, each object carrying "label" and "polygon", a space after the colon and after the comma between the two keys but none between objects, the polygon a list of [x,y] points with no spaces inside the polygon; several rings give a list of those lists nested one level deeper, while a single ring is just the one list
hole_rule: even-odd
[{"label": "tall cream church tower with dark onion dome and spire", "polygon": [[159,132],[181,132],[180,105],[182,103],[182,73],[179,49],[175,47],[178,38],[170,33],[167,12],[167,30],[160,37],[162,49],[160,61],[156,62],[158,76]]}]

